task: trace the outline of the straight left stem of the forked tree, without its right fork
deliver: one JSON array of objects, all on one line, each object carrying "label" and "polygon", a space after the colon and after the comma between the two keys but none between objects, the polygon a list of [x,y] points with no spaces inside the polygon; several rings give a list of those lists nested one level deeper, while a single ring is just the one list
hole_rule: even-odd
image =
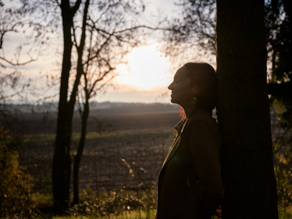
[{"label": "straight left stem of the forked tree, without its right fork", "polygon": [[65,171],[65,168],[68,166],[68,160],[65,159],[65,154],[69,147],[68,144],[70,144],[68,138],[70,138],[69,135],[71,134],[70,128],[68,127],[67,117],[67,93],[73,45],[71,41],[72,17],[69,9],[70,8],[64,5],[62,6],[64,51],[58,105],[57,136],[55,140],[55,153],[52,167],[53,208],[55,214],[62,214],[66,207],[66,201],[69,200],[69,192],[67,191],[69,188],[67,188],[67,184],[65,183],[69,174],[68,171]]}]

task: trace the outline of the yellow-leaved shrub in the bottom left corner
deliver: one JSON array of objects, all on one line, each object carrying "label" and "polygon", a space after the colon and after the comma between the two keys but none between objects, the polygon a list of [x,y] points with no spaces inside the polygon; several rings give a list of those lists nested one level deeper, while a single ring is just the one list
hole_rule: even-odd
[{"label": "yellow-leaved shrub in the bottom left corner", "polygon": [[[0,124],[0,138],[7,140],[8,131]],[[0,218],[24,218],[29,215],[29,192],[32,178],[18,163],[18,153],[0,142]]]}]

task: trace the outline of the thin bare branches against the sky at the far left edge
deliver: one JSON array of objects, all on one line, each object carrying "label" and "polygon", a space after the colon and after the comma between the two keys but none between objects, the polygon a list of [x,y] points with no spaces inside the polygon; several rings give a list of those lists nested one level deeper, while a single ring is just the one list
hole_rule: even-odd
[{"label": "thin bare branches against the sky at the far left edge", "polygon": [[[29,22],[22,14],[0,2],[0,119],[11,131],[15,124],[23,125],[20,123],[21,112],[12,100],[23,103],[27,101],[27,95],[34,93],[31,79],[24,77],[20,68],[37,60],[40,46],[34,42],[41,34],[38,29],[25,34],[23,29],[28,27]],[[23,39],[12,45],[7,39],[13,34]]]}]

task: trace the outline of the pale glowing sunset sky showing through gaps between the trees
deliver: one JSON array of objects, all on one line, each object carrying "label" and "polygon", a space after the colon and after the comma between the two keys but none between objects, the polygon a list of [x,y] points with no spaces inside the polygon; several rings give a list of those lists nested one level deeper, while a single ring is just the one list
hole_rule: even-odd
[{"label": "pale glowing sunset sky showing through gaps between the trees", "polygon": [[[174,1],[169,0],[148,0],[145,3],[143,19],[146,24],[152,26],[157,23],[158,15],[167,15],[168,18],[171,18],[177,16],[180,9],[174,5]],[[11,3],[4,0],[4,4]],[[4,51],[6,57],[9,55],[13,57],[15,50],[11,50],[12,46],[10,47],[10,45],[14,45],[15,41],[21,41],[22,39],[19,35],[11,34],[5,40]],[[111,81],[113,86],[107,87],[106,92],[98,94],[92,100],[98,102],[170,102],[170,94],[165,93],[168,91],[167,87],[173,80],[173,75],[179,66],[172,65],[173,63],[159,51],[160,43],[155,36],[149,39],[147,43],[147,45],[133,48],[126,55],[128,66],[124,64],[117,66],[117,76]],[[20,67],[22,74],[25,77],[35,79],[35,82],[39,78],[44,78],[42,76],[48,73],[60,74],[61,60],[56,58],[56,53],[61,54],[62,52],[60,48],[62,48],[62,45],[52,45],[51,50],[43,52],[37,61]],[[187,61],[183,60],[183,62]],[[40,80],[38,83],[42,84],[43,82]],[[59,86],[56,86],[55,90],[50,92],[53,94],[58,89]]]}]

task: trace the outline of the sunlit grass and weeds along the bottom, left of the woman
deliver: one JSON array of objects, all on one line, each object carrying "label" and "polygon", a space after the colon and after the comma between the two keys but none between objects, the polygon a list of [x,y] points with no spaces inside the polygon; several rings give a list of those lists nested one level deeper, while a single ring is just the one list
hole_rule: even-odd
[{"label": "sunlit grass and weeds along the bottom, left of the woman", "polygon": [[[30,195],[31,218],[104,218],[104,219],[154,219],[156,213],[156,189],[113,189],[96,192],[91,187],[80,194],[80,204],[69,206],[65,215],[53,216],[52,193]],[[71,194],[72,195],[72,194]],[[73,197],[70,197],[72,202]]]}]

